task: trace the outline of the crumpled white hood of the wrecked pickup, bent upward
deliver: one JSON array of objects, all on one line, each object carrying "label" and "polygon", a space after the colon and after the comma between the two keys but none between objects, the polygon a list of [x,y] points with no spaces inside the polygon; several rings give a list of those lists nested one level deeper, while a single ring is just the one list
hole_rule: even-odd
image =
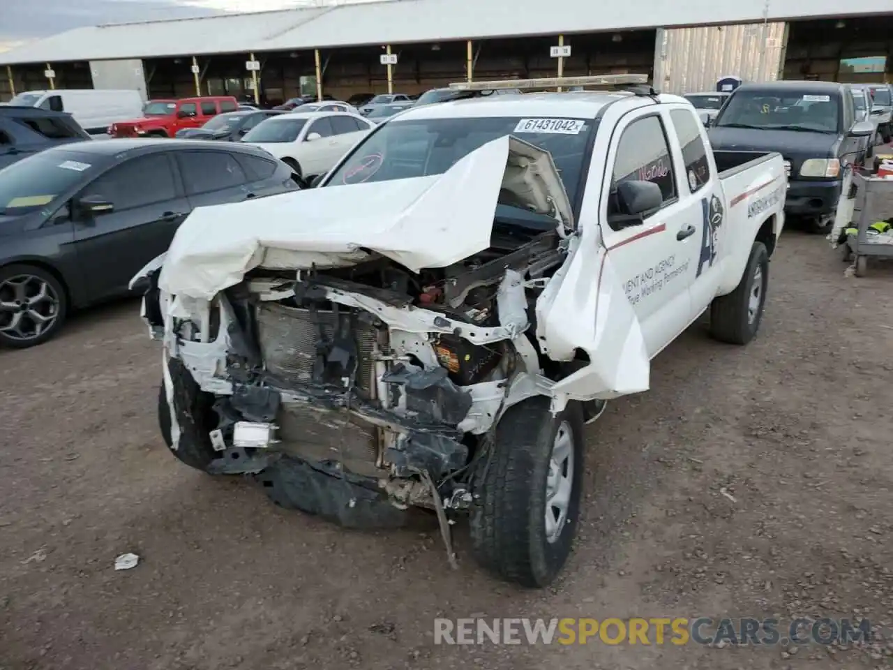
[{"label": "crumpled white hood of the wrecked pickup, bent upward", "polygon": [[505,136],[441,175],[199,207],[179,226],[159,287],[210,300],[256,267],[338,267],[356,264],[370,252],[413,272],[446,267],[489,247],[502,188],[531,208],[557,210],[556,226],[561,219],[572,225],[551,156]]}]

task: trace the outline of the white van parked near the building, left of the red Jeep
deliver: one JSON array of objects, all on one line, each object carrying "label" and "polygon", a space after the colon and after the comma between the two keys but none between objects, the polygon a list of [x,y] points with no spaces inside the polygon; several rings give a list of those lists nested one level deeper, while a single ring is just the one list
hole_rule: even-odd
[{"label": "white van parked near the building, left of the red Jeep", "polygon": [[9,104],[68,112],[90,135],[104,134],[115,121],[138,119],[143,115],[143,98],[136,89],[24,91]]}]

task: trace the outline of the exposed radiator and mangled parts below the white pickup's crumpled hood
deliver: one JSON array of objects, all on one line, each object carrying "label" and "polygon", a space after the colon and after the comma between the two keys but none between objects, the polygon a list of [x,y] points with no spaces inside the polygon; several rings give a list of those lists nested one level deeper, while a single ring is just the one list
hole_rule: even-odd
[{"label": "exposed radiator and mangled parts below the white pickup's crumpled hood", "polygon": [[[554,226],[497,222],[491,247],[418,274],[383,257],[296,279],[250,272],[207,319],[209,343],[230,340],[225,371],[190,356],[203,347],[200,322],[176,329],[179,359],[216,391],[210,469],[261,473],[287,455],[383,489],[398,507],[434,507],[422,474],[462,499],[462,473],[506,399],[537,392],[528,314],[565,254]],[[386,308],[424,310],[435,331],[388,327]]]}]

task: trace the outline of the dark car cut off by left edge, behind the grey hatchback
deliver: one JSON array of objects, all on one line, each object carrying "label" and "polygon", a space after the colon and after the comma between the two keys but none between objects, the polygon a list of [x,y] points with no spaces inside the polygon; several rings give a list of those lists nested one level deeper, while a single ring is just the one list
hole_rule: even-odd
[{"label": "dark car cut off by left edge, behind the grey hatchback", "polygon": [[91,139],[71,114],[37,107],[0,106],[0,170],[31,154]]}]

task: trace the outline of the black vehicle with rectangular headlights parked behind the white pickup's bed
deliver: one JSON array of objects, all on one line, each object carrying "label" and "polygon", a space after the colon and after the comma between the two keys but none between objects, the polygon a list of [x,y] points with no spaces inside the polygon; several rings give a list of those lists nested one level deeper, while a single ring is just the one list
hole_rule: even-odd
[{"label": "black vehicle with rectangular headlights parked behind the white pickup's bed", "polygon": [[787,214],[814,230],[833,224],[847,163],[864,163],[871,123],[856,121],[848,84],[774,81],[742,84],[709,123],[714,150],[777,151],[785,160]]}]

